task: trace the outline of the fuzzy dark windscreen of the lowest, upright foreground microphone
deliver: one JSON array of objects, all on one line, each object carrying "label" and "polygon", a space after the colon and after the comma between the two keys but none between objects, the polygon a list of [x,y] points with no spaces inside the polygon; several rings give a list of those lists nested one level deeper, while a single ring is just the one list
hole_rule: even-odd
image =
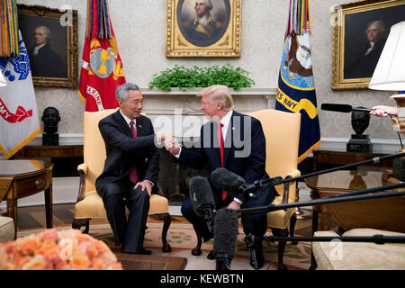
[{"label": "fuzzy dark windscreen of the lowest, upright foreground microphone", "polygon": [[214,252],[233,256],[238,238],[238,212],[228,208],[218,210],[215,215],[214,235]]}]

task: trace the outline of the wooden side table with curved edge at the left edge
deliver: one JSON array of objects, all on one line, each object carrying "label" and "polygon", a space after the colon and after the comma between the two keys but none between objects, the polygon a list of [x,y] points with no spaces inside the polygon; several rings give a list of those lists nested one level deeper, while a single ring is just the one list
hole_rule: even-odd
[{"label": "wooden side table with curved edge at the left edge", "polygon": [[17,201],[20,198],[44,191],[47,228],[52,220],[52,168],[42,160],[0,160],[0,202],[7,201],[7,215],[14,219],[17,235]]}]

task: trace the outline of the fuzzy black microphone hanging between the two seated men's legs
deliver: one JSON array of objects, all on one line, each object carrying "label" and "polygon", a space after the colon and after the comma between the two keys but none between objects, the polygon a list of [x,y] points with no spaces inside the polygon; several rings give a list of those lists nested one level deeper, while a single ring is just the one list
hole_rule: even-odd
[{"label": "fuzzy black microphone hanging between the two seated men's legs", "polygon": [[205,220],[208,230],[213,233],[215,202],[210,183],[202,176],[193,176],[189,190],[194,212]]}]

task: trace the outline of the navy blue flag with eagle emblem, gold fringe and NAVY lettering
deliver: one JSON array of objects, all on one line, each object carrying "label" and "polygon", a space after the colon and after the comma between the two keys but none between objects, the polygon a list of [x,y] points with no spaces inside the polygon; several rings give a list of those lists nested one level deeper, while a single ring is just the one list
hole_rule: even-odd
[{"label": "navy blue flag with eagle emblem, gold fringe and NAVY lettering", "polygon": [[301,112],[299,163],[320,147],[310,35],[310,0],[290,0],[275,109]]}]

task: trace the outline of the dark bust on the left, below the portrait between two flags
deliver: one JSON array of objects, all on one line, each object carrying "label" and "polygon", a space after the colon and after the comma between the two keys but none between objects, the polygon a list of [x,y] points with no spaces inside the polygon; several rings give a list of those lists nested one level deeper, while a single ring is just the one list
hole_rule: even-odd
[{"label": "dark bust on the left, below the portrait between two flags", "polygon": [[59,145],[58,121],[60,121],[60,116],[58,109],[55,107],[45,108],[40,120],[43,121],[44,130],[42,134],[42,145]]}]

